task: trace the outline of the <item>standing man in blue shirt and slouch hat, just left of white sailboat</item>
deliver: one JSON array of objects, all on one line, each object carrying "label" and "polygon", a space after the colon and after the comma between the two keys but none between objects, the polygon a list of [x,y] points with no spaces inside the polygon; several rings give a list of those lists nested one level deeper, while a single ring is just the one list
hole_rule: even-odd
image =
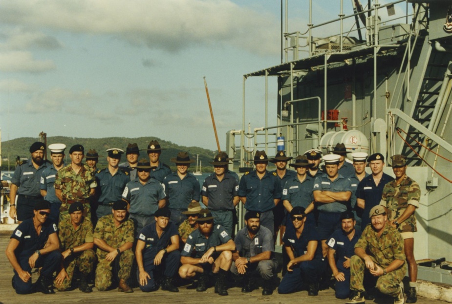
[{"label": "standing man in blue shirt and slouch hat, just left of white sailboat", "polygon": [[171,210],[171,220],[179,226],[187,216],[185,212],[191,202],[199,201],[201,188],[193,174],[188,173],[188,168],[194,160],[190,159],[188,152],[179,152],[171,158],[176,163],[177,171],[168,175],[163,180],[166,199]]}]

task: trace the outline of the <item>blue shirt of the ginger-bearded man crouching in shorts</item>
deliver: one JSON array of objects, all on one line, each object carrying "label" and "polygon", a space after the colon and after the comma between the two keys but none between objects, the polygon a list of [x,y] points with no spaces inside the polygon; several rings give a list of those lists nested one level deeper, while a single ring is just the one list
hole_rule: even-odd
[{"label": "blue shirt of the ginger-bearded man crouching in shorts", "polygon": [[226,244],[231,239],[231,236],[221,225],[214,225],[212,233],[207,239],[199,229],[192,232],[185,243],[184,250],[181,252],[182,257],[191,257],[193,251],[195,251],[195,258],[200,259],[206,251],[214,246]]}]

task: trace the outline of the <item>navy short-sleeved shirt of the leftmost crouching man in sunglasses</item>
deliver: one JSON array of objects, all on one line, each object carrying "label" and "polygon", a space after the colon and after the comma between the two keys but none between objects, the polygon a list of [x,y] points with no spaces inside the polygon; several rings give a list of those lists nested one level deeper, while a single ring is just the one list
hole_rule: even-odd
[{"label": "navy short-sleeved shirt of the leftmost crouching man in sunglasses", "polygon": [[38,236],[35,225],[33,224],[33,218],[24,220],[11,235],[11,239],[17,239],[19,241],[19,246],[14,252],[16,259],[18,261],[28,260],[36,250],[44,248],[45,242],[51,234],[57,232],[57,225],[50,220],[46,220],[41,226],[41,232]]}]

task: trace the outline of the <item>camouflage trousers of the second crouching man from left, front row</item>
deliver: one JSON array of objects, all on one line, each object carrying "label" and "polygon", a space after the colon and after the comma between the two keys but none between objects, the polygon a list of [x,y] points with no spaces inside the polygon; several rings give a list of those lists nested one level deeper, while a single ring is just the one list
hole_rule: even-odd
[{"label": "camouflage trousers of the second crouching man from left, front row", "polygon": [[70,288],[72,278],[74,277],[75,267],[78,267],[82,275],[87,276],[93,269],[96,254],[94,250],[88,249],[81,254],[73,254],[67,257],[64,261],[65,270],[69,279],[65,279],[61,285],[55,284],[55,287],[60,291],[65,291]]}]

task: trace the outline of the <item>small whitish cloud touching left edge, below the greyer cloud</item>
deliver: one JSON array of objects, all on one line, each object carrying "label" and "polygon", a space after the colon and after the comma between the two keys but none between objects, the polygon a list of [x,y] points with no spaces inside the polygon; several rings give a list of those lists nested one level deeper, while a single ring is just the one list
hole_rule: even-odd
[{"label": "small whitish cloud touching left edge, below the greyer cloud", "polygon": [[0,71],[2,72],[45,72],[55,69],[51,60],[36,60],[30,52],[10,51],[0,53]]}]

